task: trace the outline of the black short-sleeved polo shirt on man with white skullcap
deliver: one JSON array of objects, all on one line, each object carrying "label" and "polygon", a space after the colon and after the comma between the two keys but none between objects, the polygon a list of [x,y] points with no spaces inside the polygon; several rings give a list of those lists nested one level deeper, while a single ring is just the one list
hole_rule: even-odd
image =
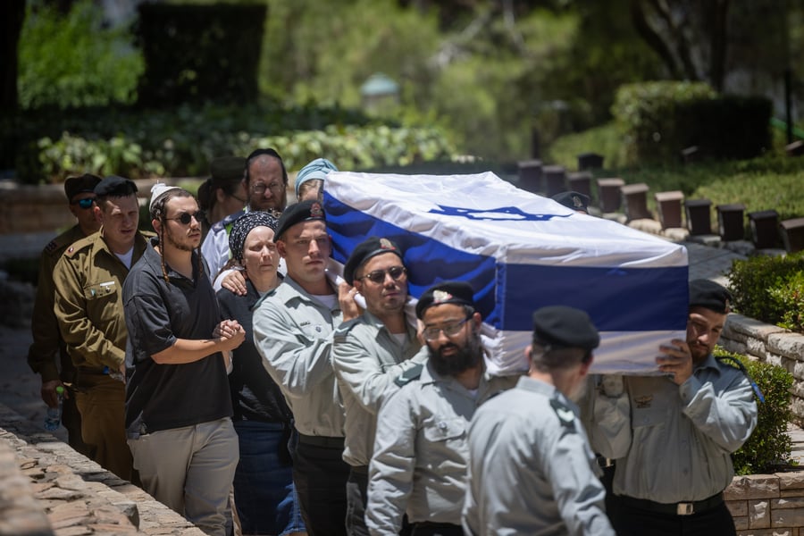
[{"label": "black short-sleeved polo shirt on man with white skullcap", "polygon": [[188,364],[157,364],[151,358],[176,339],[210,339],[218,305],[205,272],[193,279],[165,268],[151,239],[123,284],[129,338],[126,344],[126,429],[131,434],[180,428],[231,416],[226,367],[220,353]]}]

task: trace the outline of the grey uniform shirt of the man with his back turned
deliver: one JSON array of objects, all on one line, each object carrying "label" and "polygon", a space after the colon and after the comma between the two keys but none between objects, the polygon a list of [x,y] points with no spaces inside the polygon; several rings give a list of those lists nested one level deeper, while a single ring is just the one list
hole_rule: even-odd
[{"label": "grey uniform shirt of the man with his back turned", "polygon": [[520,378],[480,407],[469,458],[465,532],[614,535],[578,408],[549,383]]}]

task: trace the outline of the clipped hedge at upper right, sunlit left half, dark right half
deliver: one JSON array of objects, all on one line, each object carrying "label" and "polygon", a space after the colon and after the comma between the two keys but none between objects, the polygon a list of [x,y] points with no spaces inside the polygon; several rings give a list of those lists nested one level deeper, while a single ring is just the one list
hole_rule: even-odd
[{"label": "clipped hedge at upper right, sunlit left half, dark right half", "polygon": [[678,161],[686,147],[716,159],[745,159],[772,147],[772,104],[765,97],[717,96],[702,82],[628,84],[612,113],[630,163]]}]

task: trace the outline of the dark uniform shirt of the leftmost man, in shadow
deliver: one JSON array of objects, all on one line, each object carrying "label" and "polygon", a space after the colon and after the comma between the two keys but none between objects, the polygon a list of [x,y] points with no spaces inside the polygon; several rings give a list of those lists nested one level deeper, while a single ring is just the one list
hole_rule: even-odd
[{"label": "dark uniform shirt of the leftmost man, in shadow", "polygon": [[59,321],[56,320],[54,312],[53,272],[64,250],[73,242],[83,238],[84,232],[80,226],[73,225],[69,230],[65,230],[51,240],[42,250],[42,255],[39,256],[37,296],[30,320],[33,343],[28,350],[28,364],[33,372],[42,376],[42,383],[59,379],[59,369],[54,359],[57,353],[61,357],[62,380],[72,381],[72,378],[69,377],[70,370],[74,370],[72,361],[59,333]]}]

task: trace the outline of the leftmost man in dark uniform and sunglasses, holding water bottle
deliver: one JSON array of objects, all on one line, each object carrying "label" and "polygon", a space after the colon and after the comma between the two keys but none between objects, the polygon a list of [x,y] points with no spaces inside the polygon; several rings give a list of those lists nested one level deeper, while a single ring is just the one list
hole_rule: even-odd
[{"label": "leftmost man in dark uniform and sunglasses, holding water bottle", "polygon": [[[70,229],[50,241],[39,257],[37,296],[34,301],[30,331],[33,343],[28,350],[28,364],[33,372],[42,377],[42,400],[47,406],[58,405],[57,387],[65,387],[62,423],[67,430],[67,441],[84,456],[92,457],[91,451],[81,440],[81,415],[75,405],[75,393],[71,386],[75,381],[75,366],[64,346],[54,306],[53,270],[64,250],[73,242],[83,239],[100,229],[95,216],[95,187],[100,177],[85,173],[80,177],[68,177],[64,181],[64,194],[70,202],[70,212],[77,220]],[[56,355],[59,356],[56,364]],[[65,385],[66,384],[66,385]]]}]

